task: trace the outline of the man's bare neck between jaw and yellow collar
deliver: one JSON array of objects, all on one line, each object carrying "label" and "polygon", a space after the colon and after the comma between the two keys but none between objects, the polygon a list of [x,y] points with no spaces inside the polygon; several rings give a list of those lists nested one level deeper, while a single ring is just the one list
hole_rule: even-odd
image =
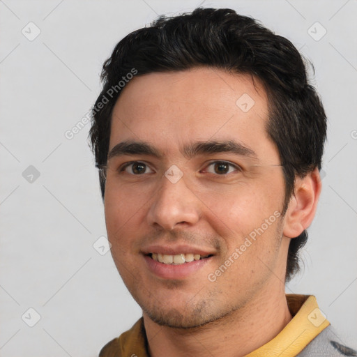
[{"label": "man's bare neck between jaw and yellow collar", "polygon": [[229,316],[189,330],[159,326],[144,313],[151,357],[202,356],[203,351],[216,357],[240,357],[255,351],[292,318],[282,284],[276,294],[272,290],[266,284],[264,294]]}]

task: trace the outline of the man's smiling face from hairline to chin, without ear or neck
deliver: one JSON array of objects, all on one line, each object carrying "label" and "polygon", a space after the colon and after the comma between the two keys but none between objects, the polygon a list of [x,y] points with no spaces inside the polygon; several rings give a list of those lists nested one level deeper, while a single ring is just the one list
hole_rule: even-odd
[{"label": "man's smiling face from hairline to chin, without ear or neck", "polygon": [[156,323],[200,326],[284,285],[284,179],[267,120],[266,92],[248,75],[195,68],[123,89],[107,233],[123,281]]}]

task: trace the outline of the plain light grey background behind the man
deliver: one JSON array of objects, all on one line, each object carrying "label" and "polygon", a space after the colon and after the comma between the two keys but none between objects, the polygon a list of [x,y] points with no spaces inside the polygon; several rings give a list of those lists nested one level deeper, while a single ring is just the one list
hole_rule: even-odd
[{"label": "plain light grey background behind the man", "polygon": [[[202,4],[256,17],[314,63],[312,82],[329,119],[326,176],[303,252],[304,271],[287,292],[317,296],[342,342],[356,346],[357,3]],[[123,36],[158,14],[198,5],[0,1],[0,356],[96,356],[139,318],[110,252],[101,255],[101,241],[95,244],[106,231],[86,143],[89,124],[73,139],[65,132],[96,100],[102,63]],[[29,22],[40,29],[32,41],[26,36],[38,30]],[[37,315],[30,307],[40,315],[33,327],[28,325]]]}]

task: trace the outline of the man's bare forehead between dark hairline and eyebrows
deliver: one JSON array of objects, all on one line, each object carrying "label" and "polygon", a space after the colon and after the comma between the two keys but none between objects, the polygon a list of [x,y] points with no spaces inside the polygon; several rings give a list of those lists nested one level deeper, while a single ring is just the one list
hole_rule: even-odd
[{"label": "man's bare forehead between dark hairline and eyebrows", "polygon": [[186,142],[231,139],[264,151],[268,99],[258,79],[216,68],[132,79],[114,106],[109,150],[142,140],[169,152]]}]

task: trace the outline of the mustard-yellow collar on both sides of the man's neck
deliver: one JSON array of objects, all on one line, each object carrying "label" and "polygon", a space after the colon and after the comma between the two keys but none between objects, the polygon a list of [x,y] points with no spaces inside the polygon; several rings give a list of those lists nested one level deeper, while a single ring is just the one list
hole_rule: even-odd
[{"label": "mustard-yellow collar on both sides of the man's neck", "polygon": [[[246,357],[296,356],[330,323],[319,310],[312,295],[287,294],[287,304],[293,319],[273,340]],[[129,331],[102,348],[100,357],[149,357],[144,320],[139,319]]]}]

